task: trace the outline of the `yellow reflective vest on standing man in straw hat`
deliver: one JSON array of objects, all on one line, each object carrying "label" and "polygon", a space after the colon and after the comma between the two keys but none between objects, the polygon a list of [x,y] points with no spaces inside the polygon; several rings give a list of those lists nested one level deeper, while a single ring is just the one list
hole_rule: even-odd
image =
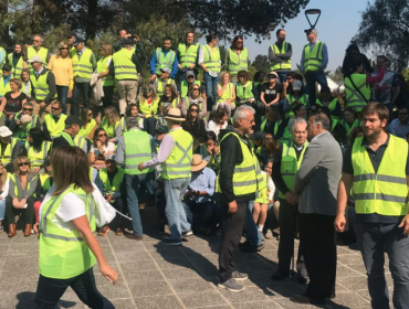
[{"label": "yellow reflective vest on standing man in straw hat", "polygon": [[161,164],[162,178],[167,180],[190,178],[190,166],[193,157],[193,138],[181,128],[171,130],[175,146],[168,159]]}]

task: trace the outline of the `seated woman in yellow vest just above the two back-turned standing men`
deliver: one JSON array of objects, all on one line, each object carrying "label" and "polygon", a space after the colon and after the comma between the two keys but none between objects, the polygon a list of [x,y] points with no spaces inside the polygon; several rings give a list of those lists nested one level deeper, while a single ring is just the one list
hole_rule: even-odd
[{"label": "seated woman in yellow vest just above the two back-turned standing men", "polygon": [[151,85],[145,86],[139,96],[139,110],[144,117],[144,127],[146,131],[154,136],[156,127],[156,117],[158,115],[159,97]]}]

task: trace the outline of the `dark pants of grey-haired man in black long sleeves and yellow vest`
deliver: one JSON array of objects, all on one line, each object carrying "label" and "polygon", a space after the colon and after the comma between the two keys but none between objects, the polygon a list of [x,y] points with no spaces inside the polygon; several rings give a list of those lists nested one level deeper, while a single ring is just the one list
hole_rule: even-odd
[{"label": "dark pants of grey-haired man in black long sleeves and yellow vest", "polygon": [[235,270],[234,254],[239,248],[241,234],[243,232],[245,212],[249,202],[238,202],[238,211],[233,214],[228,213],[229,205],[222,202],[223,230],[221,234],[219,251],[219,273],[222,283],[231,278]]}]

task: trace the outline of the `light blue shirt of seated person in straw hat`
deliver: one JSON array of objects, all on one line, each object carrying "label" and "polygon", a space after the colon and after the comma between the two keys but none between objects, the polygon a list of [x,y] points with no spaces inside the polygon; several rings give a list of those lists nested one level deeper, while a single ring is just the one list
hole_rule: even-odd
[{"label": "light blue shirt of seated person in straw hat", "polygon": [[204,168],[201,171],[192,172],[191,181],[187,191],[189,190],[206,191],[208,192],[208,194],[202,196],[193,196],[191,198],[191,201],[195,201],[196,203],[199,204],[211,202],[211,198],[214,194],[214,184],[216,184],[216,173],[213,172],[213,170]]}]

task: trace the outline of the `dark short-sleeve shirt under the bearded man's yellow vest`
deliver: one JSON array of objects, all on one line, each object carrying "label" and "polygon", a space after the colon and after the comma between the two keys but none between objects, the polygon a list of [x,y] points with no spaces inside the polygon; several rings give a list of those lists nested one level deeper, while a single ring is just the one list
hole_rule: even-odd
[{"label": "dark short-sleeve shirt under the bearded man's yellow vest", "polygon": [[[363,139],[363,146],[368,152],[369,159],[373,163],[374,170],[377,173],[378,168],[380,166],[380,161],[382,160],[384,153],[386,148],[389,145],[389,134],[388,134],[388,139],[387,141],[381,145],[377,151],[374,151],[371,148],[369,148],[367,140]],[[354,175],[354,166],[353,166],[353,147],[352,145],[345,152],[344,157],[344,166],[343,166],[343,172],[347,174]],[[409,147],[409,145],[408,145]],[[409,175],[409,154],[408,158],[406,158],[406,174]],[[401,216],[390,216],[390,215],[380,215],[377,213],[374,214],[357,214],[356,220],[361,221],[361,222],[371,222],[371,223],[382,223],[382,224],[391,224],[391,223],[397,223],[401,220]]]}]

